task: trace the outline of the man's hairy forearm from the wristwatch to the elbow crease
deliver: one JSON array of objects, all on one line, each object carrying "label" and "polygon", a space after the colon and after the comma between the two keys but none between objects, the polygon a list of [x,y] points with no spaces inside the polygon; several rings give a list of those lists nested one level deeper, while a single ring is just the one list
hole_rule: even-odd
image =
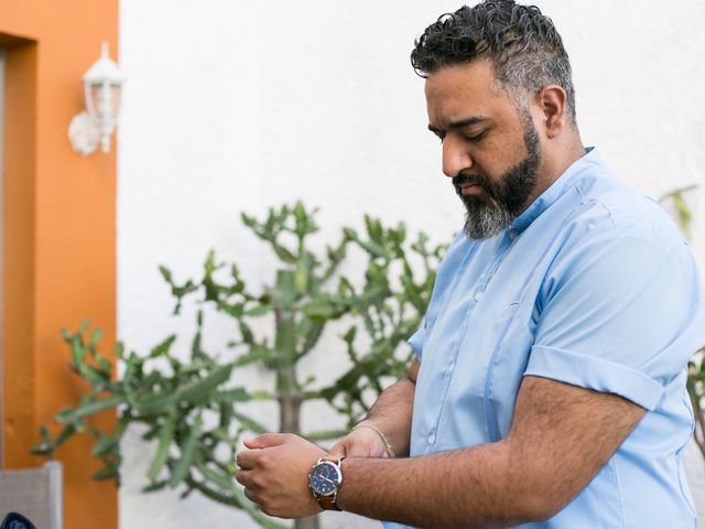
[{"label": "man's hairy forearm from the wristwatch to the elbow crease", "polygon": [[338,506],[370,518],[494,528],[542,517],[503,442],[414,458],[351,457],[343,465]]}]

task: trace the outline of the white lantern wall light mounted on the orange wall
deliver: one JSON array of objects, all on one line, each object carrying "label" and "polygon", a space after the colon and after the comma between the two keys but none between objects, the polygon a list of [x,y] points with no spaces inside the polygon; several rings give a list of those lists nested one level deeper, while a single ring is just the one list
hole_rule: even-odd
[{"label": "white lantern wall light mounted on the orange wall", "polygon": [[108,43],[102,43],[100,58],[84,74],[86,111],[77,114],[68,126],[70,144],[82,156],[96,150],[110,152],[110,136],[118,122],[120,96],[124,76],[108,54]]}]

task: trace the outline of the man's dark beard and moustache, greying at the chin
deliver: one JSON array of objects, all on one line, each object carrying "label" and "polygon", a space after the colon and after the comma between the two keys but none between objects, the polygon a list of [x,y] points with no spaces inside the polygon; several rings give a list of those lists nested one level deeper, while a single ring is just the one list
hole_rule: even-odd
[{"label": "man's dark beard and moustache, greying at the chin", "polygon": [[[466,209],[465,236],[469,239],[488,239],[500,234],[524,210],[527,202],[536,186],[536,171],[541,163],[539,134],[531,119],[524,119],[524,144],[527,158],[502,174],[490,180],[482,174],[460,172],[453,177],[455,191]],[[462,184],[479,185],[487,201],[474,195],[464,195]]]}]

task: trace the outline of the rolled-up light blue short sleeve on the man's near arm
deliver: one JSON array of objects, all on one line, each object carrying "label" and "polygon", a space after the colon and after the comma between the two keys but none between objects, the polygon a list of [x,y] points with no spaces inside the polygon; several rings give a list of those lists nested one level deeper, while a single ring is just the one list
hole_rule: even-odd
[{"label": "rolled-up light blue short sleeve on the man's near arm", "polygon": [[524,376],[616,393],[653,410],[697,348],[703,319],[685,248],[615,230],[576,245],[546,276]]}]

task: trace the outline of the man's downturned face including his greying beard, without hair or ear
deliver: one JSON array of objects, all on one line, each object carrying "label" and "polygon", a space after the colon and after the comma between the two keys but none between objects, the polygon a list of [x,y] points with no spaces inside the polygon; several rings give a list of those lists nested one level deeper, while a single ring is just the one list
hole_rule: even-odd
[{"label": "man's downturned face including his greying beard, without hair or ear", "polygon": [[541,147],[529,111],[496,88],[487,61],[430,75],[426,104],[429,128],[443,140],[443,172],[467,210],[466,235],[497,235],[536,197]]}]

